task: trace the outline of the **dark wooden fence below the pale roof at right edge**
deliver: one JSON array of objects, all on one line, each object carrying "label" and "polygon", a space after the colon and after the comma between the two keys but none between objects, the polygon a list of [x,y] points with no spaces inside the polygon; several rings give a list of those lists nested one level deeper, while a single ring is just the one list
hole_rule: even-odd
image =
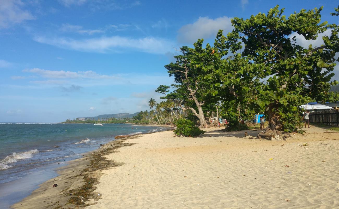
[{"label": "dark wooden fence below the pale roof at right edge", "polygon": [[339,109],[326,110],[321,112],[310,112],[310,122],[323,123],[339,127]]}]

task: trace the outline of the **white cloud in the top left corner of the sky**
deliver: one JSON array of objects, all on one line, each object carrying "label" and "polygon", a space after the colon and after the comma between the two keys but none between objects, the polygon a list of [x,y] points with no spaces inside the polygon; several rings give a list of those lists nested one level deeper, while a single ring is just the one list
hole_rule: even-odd
[{"label": "white cloud in the top left corner of the sky", "polygon": [[25,20],[33,20],[31,12],[23,9],[24,5],[21,0],[0,0],[0,29]]}]

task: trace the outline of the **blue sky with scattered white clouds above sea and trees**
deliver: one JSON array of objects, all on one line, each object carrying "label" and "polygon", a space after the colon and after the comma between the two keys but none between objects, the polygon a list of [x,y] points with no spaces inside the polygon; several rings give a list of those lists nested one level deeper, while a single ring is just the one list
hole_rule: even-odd
[{"label": "blue sky with scattered white clouds above sea and trees", "polygon": [[212,43],[233,17],[276,4],[286,16],[324,6],[322,20],[339,23],[330,0],[0,0],[0,122],[149,110],[149,98],[160,101],[155,89],[173,83],[164,65],[181,46]]}]

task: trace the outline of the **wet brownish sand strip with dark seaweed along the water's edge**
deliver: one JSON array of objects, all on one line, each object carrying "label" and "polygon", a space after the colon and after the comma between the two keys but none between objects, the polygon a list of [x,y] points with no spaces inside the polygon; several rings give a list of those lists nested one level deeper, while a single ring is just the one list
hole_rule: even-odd
[{"label": "wet brownish sand strip with dark seaweed along the water's edge", "polygon": [[[155,125],[149,124],[147,126],[155,126]],[[171,126],[165,126],[165,125],[159,126],[158,125],[157,127],[171,127]],[[67,161],[65,166],[55,168],[53,171],[51,171],[51,172],[55,172],[57,176],[54,178],[48,179],[47,181],[44,181],[43,183],[39,184],[38,188],[35,189],[31,194],[21,199],[21,201],[14,203],[13,205],[11,205],[10,208],[24,207],[24,208],[37,209],[37,208],[48,208],[51,206],[53,206],[53,208],[59,207],[58,203],[60,203],[60,199],[62,199],[62,201],[66,201],[68,199],[66,201],[68,202],[69,199],[72,198],[72,195],[69,195],[69,196],[66,195],[67,193],[65,193],[65,191],[76,190],[77,188],[83,186],[81,184],[85,182],[84,178],[88,178],[88,176],[90,176],[89,178],[92,178],[93,185],[96,185],[97,178],[100,177],[100,175],[98,176],[97,174],[95,174],[96,171],[100,172],[103,169],[121,166],[121,163],[117,163],[111,160],[106,160],[103,156],[106,154],[115,152],[115,150],[119,149],[120,147],[129,146],[129,144],[123,143],[123,141],[129,138],[137,137],[139,135],[153,134],[157,132],[164,132],[167,130],[172,130],[172,129],[158,130],[158,131],[150,132],[150,133],[133,134],[122,139],[113,138],[112,141],[102,144],[99,148],[93,151],[81,153],[82,155],[81,158]],[[94,167],[91,166],[91,162],[93,162],[93,159],[94,159],[94,163],[99,163],[99,166],[94,166]],[[58,186],[53,188],[52,186],[54,184],[57,184]],[[55,194],[55,193],[58,193],[58,194]],[[91,191],[89,191],[89,193],[91,193]],[[69,194],[71,194],[71,192]],[[60,197],[66,197],[66,198],[60,198]],[[98,196],[95,196],[95,195],[90,195],[87,197],[87,199],[89,199],[90,197],[98,199]],[[48,201],[46,201],[45,199],[48,199]],[[80,202],[81,200],[83,199],[76,198],[76,201],[72,201],[72,202],[81,203]],[[40,202],[40,204],[36,206],[36,202]],[[73,205],[70,204],[67,206],[71,207],[75,205],[76,204],[73,204]]]}]

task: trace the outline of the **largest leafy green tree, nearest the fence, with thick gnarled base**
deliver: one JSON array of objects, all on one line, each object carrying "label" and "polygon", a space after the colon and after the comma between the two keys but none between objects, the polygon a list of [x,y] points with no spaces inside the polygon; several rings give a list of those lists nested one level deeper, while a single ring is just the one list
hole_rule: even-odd
[{"label": "largest leafy green tree, nearest the fence, with thick gnarled base", "polygon": [[[248,60],[244,68],[253,80],[260,78],[251,88],[257,91],[253,102],[266,109],[266,135],[295,131],[301,104],[336,98],[328,90],[337,84],[331,78],[339,51],[338,26],[321,22],[321,10],[303,9],[286,17],[277,5],[267,14],[231,20],[234,30],[227,35],[228,45],[243,46],[241,58]],[[324,35],[320,46],[305,48],[295,36],[314,40],[326,30],[331,35]]]}]

